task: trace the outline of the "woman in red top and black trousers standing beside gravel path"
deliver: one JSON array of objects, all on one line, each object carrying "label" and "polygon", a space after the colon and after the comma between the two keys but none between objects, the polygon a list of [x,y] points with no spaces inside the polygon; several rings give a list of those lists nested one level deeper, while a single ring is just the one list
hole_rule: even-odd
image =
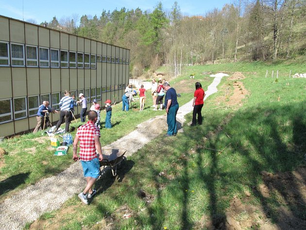
[{"label": "woman in red top and black trousers standing beside gravel path", "polygon": [[195,126],[197,124],[197,114],[198,114],[198,124],[202,124],[202,107],[204,105],[204,96],[205,92],[202,88],[200,82],[195,84],[196,90],[194,91],[194,98],[192,102],[193,113],[192,113],[192,123],[191,126]]}]

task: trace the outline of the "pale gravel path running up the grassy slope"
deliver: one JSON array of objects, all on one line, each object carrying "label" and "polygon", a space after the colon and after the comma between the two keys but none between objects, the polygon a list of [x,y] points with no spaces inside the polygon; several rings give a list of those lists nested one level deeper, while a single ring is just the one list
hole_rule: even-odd
[{"label": "pale gravel path running up the grassy slope", "polygon": [[[216,76],[212,84],[208,86],[204,100],[217,92],[221,78]],[[177,121],[183,124],[184,116],[192,110],[191,100],[179,108]],[[156,124],[162,124],[162,128]],[[180,128],[178,131],[182,132],[183,129],[180,125],[178,126]],[[130,134],[102,148],[127,149],[126,156],[131,156],[158,135],[165,133],[165,130],[167,130],[166,116],[156,116],[137,125],[136,130]],[[6,199],[0,204],[0,229],[22,229],[27,222],[36,220],[44,212],[59,209],[68,198],[84,189],[85,178],[82,172],[81,163],[78,161],[58,175],[43,179]]]}]

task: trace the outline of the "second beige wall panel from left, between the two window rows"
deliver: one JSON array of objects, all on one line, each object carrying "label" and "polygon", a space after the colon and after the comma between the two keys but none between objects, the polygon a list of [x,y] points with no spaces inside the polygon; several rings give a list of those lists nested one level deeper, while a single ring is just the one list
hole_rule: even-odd
[{"label": "second beige wall panel from left, between the two window rows", "polygon": [[13,97],[27,95],[26,68],[12,68]]}]

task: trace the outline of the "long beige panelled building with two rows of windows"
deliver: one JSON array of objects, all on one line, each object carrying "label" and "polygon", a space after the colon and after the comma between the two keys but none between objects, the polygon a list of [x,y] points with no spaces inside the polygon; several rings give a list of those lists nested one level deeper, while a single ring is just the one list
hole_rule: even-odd
[{"label": "long beige panelled building with two rows of windows", "polygon": [[66,89],[83,93],[88,109],[94,99],[121,100],[130,50],[3,16],[0,31],[0,136],[33,129],[38,106],[59,109]]}]

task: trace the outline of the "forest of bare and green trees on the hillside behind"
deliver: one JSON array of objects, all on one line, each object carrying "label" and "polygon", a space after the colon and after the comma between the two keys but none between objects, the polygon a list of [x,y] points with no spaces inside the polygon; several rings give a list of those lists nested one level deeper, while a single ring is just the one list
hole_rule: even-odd
[{"label": "forest of bare and green trees on the hillside behind", "polygon": [[159,2],[152,11],[54,17],[47,26],[130,49],[133,76],[161,65],[177,76],[183,65],[306,54],[306,0],[232,0],[202,16],[182,15],[177,2],[165,11]]}]

